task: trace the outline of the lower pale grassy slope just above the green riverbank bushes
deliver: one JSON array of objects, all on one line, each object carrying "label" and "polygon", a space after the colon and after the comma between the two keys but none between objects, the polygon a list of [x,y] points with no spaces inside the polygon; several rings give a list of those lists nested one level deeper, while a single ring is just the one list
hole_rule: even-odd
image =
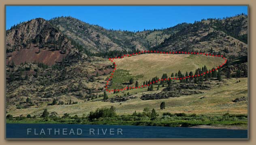
[{"label": "lower pale grassy slope just above the green riverbank bushes", "polygon": [[[241,80],[241,82],[236,83],[237,80]],[[241,101],[234,103],[232,100],[247,96],[247,78],[232,78],[232,79],[224,79],[224,84],[221,87],[214,87],[211,90],[205,90],[204,94],[199,95],[189,95],[182,96],[177,98],[169,98],[169,99],[159,99],[159,100],[146,100],[143,101],[139,98],[130,99],[126,102],[119,103],[110,103],[110,102],[102,102],[96,101],[102,98],[82,102],[75,105],[54,105],[47,106],[43,105],[39,108],[34,109],[16,109],[15,111],[9,112],[12,115],[20,115],[26,114],[35,115],[38,113],[42,113],[44,108],[47,108],[49,112],[56,111],[60,116],[64,113],[70,113],[70,115],[79,115],[87,114],[90,111],[94,111],[99,107],[110,107],[111,105],[116,107],[118,114],[131,114],[135,110],[137,112],[143,111],[143,108],[155,108],[158,113],[162,112],[183,112],[183,113],[198,113],[198,114],[206,114],[206,115],[221,115],[224,113],[247,113],[247,101]],[[156,87],[156,86],[155,86]],[[130,92],[130,94],[135,94],[135,96],[140,97],[143,92],[146,91],[147,88],[137,89],[137,90],[128,90],[124,91],[125,93]],[[160,90],[162,87],[160,88]],[[156,88],[154,88],[156,90]],[[160,91],[159,90],[159,91]],[[155,91],[157,92],[157,91]],[[120,92],[117,95],[120,95]],[[137,94],[136,94],[137,93]],[[200,99],[201,97],[205,97],[205,99]],[[109,95],[109,97],[113,97],[113,95]],[[162,101],[166,102],[166,109],[160,110],[160,103]],[[122,103],[122,104],[120,104]]]}]

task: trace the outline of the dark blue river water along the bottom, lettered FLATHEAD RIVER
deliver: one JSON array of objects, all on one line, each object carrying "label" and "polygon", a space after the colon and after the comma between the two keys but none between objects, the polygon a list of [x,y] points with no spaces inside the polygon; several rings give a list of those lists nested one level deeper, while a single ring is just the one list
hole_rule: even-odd
[{"label": "dark blue river water along the bottom, lettered FLATHEAD RIVER", "polygon": [[[28,128],[29,132],[28,132]],[[45,134],[41,132],[44,130]],[[51,130],[47,130],[51,128]],[[56,132],[54,134],[54,128]],[[63,128],[64,131],[62,132]],[[74,132],[71,132],[73,128]],[[77,132],[77,128],[79,130]],[[98,133],[99,128],[99,133]],[[110,129],[112,128],[112,132]],[[117,129],[119,128],[119,132]],[[94,129],[94,134],[91,132]],[[107,131],[106,131],[107,129]],[[122,130],[122,131],[121,131]],[[103,131],[103,132],[102,132]],[[40,135],[41,132],[41,135]],[[122,132],[122,134],[120,133]],[[49,134],[50,133],[50,134]],[[75,134],[74,134],[75,133]],[[78,133],[78,134],[77,134]],[[104,134],[105,133],[105,134]],[[118,133],[118,134],[117,134]],[[38,135],[37,135],[38,134]],[[65,135],[68,134],[68,135]],[[6,139],[11,138],[241,138],[247,139],[247,130],[207,129],[161,126],[83,125],[83,124],[6,124]]]}]

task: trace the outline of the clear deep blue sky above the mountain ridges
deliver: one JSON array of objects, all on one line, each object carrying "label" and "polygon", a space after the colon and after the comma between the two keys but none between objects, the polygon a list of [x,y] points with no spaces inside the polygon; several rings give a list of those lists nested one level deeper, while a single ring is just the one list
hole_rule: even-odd
[{"label": "clear deep blue sky above the mountain ridges", "polygon": [[247,6],[6,6],[6,29],[38,17],[71,16],[107,29],[142,31],[247,14]]}]

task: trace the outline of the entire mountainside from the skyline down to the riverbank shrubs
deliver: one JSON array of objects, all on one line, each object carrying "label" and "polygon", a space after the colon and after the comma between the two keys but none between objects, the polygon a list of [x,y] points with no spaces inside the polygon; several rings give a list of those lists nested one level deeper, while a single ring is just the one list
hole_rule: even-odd
[{"label": "entire mountainside from the skyline down to the riverbank shrubs", "polygon": [[[106,86],[134,86],[136,81],[149,85],[156,76],[183,77],[190,71],[202,74],[224,60],[143,54],[115,59],[116,68],[109,61],[140,50],[223,54],[228,63],[224,69],[198,79],[165,81],[150,85],[152,89],[108,92],[109,98],[103,99]],[[166,101],[165,111],[175,113],[247,113],[247,101],[232,102],[247,96],[246,55],[246,15],[141,32],[105,29],[73,17],[32,19],[6,31],[6,111],[15,116],[30,113],[40,117],[43,109],[48,109],[59,115],[82,116],[115,105],[118,114],[145,107],[163,113],[159,103]],[[113,71],[113,80],[107,82]]]}]

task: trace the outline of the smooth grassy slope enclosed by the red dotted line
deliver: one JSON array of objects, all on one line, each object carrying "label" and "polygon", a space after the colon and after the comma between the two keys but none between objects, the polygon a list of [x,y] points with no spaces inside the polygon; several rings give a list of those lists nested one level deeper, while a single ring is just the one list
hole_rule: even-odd
[{"label": "smooth grassy slope enclosed by the red dotted line", "polygon": [[129,82],[130,78],[138,80],[139,85],[142,85],[143,81],[155,76],[161,78],[165,73],[170,77],[172,73],[175,74],[180,70],[185,75],[186,71],[189,73],[204,65],[211,69],[224,62],[222,58],[218,57],[169,54],[143,54],[114,61],[117,64],[117,71],[110,88],[122,88],[125,86],[122,83]]}]

